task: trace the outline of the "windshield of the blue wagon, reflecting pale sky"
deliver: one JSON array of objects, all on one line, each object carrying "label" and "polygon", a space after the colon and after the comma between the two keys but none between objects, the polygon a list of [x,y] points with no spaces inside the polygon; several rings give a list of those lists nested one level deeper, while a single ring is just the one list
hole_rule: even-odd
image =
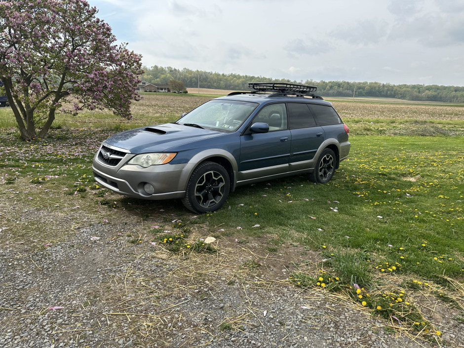
[{"label": "windshield of the blue wagon, reflecting pale sky", "polygon": [[236,100],[210,100],[180,118],[177,123],[233,132],[256,109],[258,103]]}]

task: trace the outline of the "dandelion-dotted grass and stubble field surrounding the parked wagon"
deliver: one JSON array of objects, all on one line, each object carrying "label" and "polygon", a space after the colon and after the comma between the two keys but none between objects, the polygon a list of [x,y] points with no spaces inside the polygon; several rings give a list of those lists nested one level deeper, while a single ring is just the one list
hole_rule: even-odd
[{"label": "dandelion-dotted grass and stubble field surrounding the parked wagon", "polygon": [[[269,253],[304,246],[323,261],[308,271],[299,265],[291,275],[296,286],[343,292],[375,314],[418,323],[420,332],[438,329],[418,314],[414,294],[436,294],[464,309],[463,107],[334,101],[352,145],[332,181],[314,185],[296,176],[241,187],[221,210],[192,220],[177,201],[135,201],[93,182],[93,154],[109,135],[173,121],[210,99],[144,97],[131,121],[104,111],[60,116],[48,138],[32,143],[18,140],[10,111],[0,109],[0,205],[14,200],[64,213],[78,206],[82,220],[94,216],[95,204],[108,205],[100,220],[125,210],[134,219],[150,216],[151,225],[175,214],[218,238],[242,244],[264,238]],[[0,217],[0,227],[10,229],[2,242],[57,238],[38,236],[16,217]]]}]

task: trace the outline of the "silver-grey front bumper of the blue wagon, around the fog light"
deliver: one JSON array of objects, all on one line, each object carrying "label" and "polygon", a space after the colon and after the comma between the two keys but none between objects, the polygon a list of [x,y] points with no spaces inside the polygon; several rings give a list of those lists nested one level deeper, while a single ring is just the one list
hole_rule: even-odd
[{"label": "silver-grey front bumper of the blue wagon, around the fog light", "polygon": [[[110,167],[94,158],[92,170],[95,181],[109,190],[133,198],[156,200],[184,197],[187,183],[182,173],[186,165],[168,163],[142,168],[127,164]],[[143,187],[146,183],[153,185],[155,193],[145,192]]]}]

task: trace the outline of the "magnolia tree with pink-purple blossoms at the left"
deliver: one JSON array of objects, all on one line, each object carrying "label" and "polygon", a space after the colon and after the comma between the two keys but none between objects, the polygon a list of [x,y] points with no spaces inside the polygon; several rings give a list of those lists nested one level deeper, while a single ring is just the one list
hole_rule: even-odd
[{"label": "magnolia tree with pink-purple blossoms at the left", "polygon": [[141,56],[97,12],[85,0],[0,0],[0,79],[24,140],[43,138],[57,110],[131,117]]}]

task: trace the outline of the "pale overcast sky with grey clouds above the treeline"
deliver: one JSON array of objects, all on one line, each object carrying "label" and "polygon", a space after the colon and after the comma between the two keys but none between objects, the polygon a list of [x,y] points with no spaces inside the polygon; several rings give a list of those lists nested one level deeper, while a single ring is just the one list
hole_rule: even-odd
[{"label": "pale overcast sky with grey clouds above the treeline", "polygon": [[142,63],[464,86],[464,0],[88,0]]}]

